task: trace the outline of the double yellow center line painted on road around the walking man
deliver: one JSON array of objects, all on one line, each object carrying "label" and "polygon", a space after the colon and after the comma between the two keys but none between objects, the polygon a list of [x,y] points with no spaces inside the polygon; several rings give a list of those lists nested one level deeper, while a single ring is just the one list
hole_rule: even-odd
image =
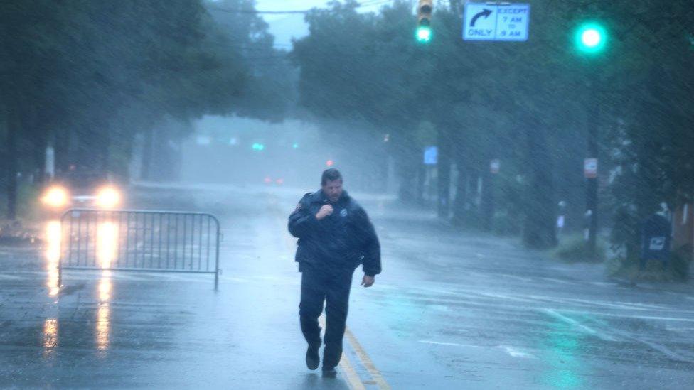
[{"label": "double yellow center line painted on road around the walking man", "polygon": [[[282,211],[279,209],[279,207],[277,207],[277,209],[275,210],[277,210],[277,220],[279,224],[282,224],[283,220],[280,216],[280,213]],[[287,249],[293,250],[296,247],[294,237],[292,237],[292,235],[290,235],[286,229],[284,230],[284,234],[282,235],[284,237],[284,244],[287,247]],[[321,327],[325,329],[326,319],[324,315],[321,315],[321,317],[319,318],[319,323],[321,324]],[[359,358],[359,360],[361,360],[363,366],[371,375],[373,382],[375,382],[379,389],[390,389],[390,385],[388,385],[388,382],[386,382],[383,378],[383,374],[381,374],[380,371],[378,371],[378,369],[375,367],[375,364],[373,364],[371,358],[368,356],[361,344],[359,344],[356,336],[348,327],[345,327],[345,335],[347,337],[347,342],[349,342],[349,345],[351,345],[357,357]],[[344,352],[342,353],[342,357],[340,359],[340,369],[346,377],[347,384],[349,385],[350,389],[365,390],[365,382],[361,381],[361,378],[357,374],[356,369],[354,369],[352,363],[350,362],[349,358]],[[369,382],[368,384],[373,384],[373,382]]]}]

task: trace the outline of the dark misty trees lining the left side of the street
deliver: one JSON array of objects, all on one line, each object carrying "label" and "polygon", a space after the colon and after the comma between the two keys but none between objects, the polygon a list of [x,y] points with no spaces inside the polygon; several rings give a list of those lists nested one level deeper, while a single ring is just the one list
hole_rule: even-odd
[{"label": "dark misty trees lining the left side of the street", "polygon": [[[252,8],[252,1],[228,2]],[[272,50],[267,25],[254,23],[230,26],[253,48]],[[9,141],[1,163],[10,217],[16,173],[42,170],[49,144],[60,170],[79,165],[125,174],[136,134],[164,118],[244,111],[277,120],[283,113],[246,108],[273,90],[252,74],[247,53],[201,0],[7,1],[0,25],[0,123]],[[36,152],[19,149],[29,146]]]}]

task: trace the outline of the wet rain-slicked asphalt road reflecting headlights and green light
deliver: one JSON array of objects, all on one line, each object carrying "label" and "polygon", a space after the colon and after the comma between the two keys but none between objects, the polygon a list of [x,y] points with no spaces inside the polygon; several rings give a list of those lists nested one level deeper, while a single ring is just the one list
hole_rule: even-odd
[{"label": "wet rain-slicked asphalt road reflecting headlights and green light", "polygon": [[[309,189],[310,190],[310,189]],[[358,286],[336,379],[304,365],[286,218],[302,190],[140,189],[137,207],[222,221],[208,275],[66,271],[0,247],[0,387],[693,389],[694,288],[621,286],[512,239],[358,195],[383,247]]]}]

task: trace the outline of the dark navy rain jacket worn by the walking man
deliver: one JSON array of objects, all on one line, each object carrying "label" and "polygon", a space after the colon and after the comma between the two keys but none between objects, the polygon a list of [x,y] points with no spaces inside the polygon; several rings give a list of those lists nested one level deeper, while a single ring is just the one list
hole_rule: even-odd
[{"label": "dark navy rain jacket worn by the walking man", "polygon": [[380,244],[364,209],[343,191],[332,204],[333,213],[316,220],[318,210],[328,204],[322,190],[307,193],[289,215],[289,232],[299,238],[299,269],[305,264],[352,269],[363,264],[368,276],[380,273]]}]

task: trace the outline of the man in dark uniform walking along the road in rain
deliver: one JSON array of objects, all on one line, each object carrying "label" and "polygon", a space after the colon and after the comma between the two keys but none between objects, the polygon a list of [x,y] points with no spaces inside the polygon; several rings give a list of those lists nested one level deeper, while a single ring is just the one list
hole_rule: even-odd
[{"label": "man in dark uniform walking along the road in rain", "polygon": [[318,318],[326,303],[323,376],[335,377],[342,356],[342,338],[352,275],[363,264],[361,285],[370,287],[380,273],[380,244],[366,212],[342,189],[342,175],[325,170],[321,190],[307,193],[289,215],[289,232],[299,238],[296,261],[301,272],[301,332],[309,347],[306,366],[320,364]]}]

